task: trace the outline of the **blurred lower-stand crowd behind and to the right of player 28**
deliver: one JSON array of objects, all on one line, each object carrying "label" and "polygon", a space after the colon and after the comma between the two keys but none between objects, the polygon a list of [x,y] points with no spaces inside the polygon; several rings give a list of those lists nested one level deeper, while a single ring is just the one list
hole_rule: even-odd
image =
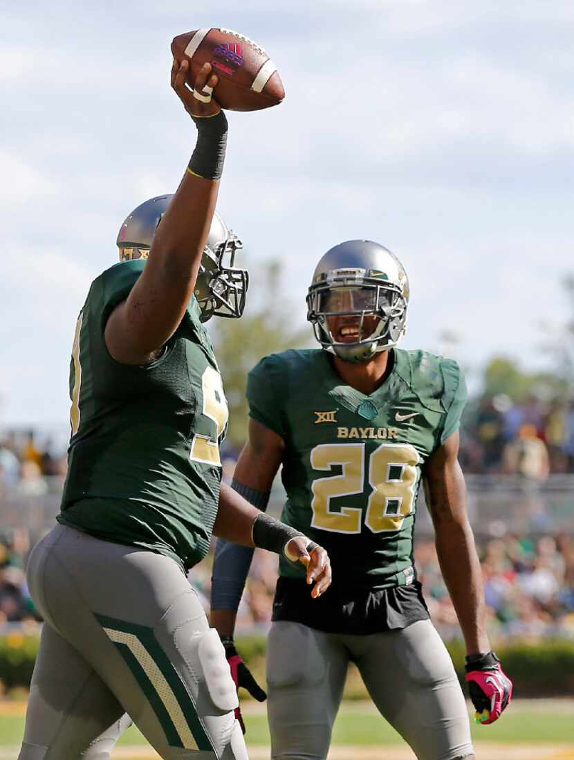
[{"label": "blurred lower-stand crowd behind and to the right of player 28", "polygon": [[[574,538],[509,535],[478,541],[484,577],[488,629],[494,640],[541,636],[574,638]],[[415,565],[430,616],[443,638],[459,638],[453,603],[444,584],[434,541],[415,543]],[[238,610],[237,631],[266,632],[277,578],[276,557],[257,550]],[[191,573],[206,609],[209,563]]]}]

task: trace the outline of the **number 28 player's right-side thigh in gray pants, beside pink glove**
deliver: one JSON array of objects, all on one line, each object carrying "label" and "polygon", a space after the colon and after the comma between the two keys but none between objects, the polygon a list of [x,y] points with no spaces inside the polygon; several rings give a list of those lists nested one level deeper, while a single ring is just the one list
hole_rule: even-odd
[{"label": "number 28 player's right-side thigh in gray pants, beside pink glove", "polygon": [[357,638],[356,662],[368,692],[419,760],[471,756],[465,698],[430,620]]}]

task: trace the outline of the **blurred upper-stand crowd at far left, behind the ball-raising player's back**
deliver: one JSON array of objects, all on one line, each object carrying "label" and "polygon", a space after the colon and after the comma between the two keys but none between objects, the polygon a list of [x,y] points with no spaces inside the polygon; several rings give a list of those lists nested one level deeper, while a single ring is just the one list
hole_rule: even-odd
[{"label": "blurred upper-stand crowd at far left, behind the ball-raising player's back", "polygon": [[47,478],[63,479],[67,458],[52,439],[37,441],[33,431],[6,432],[0,438],[0,496],[10,489],[20,496],[41,496]]}]

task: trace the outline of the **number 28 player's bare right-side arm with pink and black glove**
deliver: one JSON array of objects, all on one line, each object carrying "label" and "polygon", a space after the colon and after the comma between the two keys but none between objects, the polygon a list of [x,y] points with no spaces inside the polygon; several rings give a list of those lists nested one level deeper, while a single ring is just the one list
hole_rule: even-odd
[{"label": "number 28 player's bare right-side arm with pink and black glove", "polygon": [[493,723],[512,697],[512,682],[490,650],[481,565],[466,511],[465,479],[458,461],[459,432],[443,442],[424,468],[440,569],[466,644],[466,680],[480,723]]}]

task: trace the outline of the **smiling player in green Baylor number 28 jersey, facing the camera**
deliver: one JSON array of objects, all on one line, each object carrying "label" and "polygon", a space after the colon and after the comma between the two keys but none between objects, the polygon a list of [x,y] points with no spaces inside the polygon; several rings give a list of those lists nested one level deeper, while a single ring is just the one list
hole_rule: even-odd
[{"label": "smiling player in green Baylor number 28 jersey, facing the camera", "polygon": [[[333,585],[311,604],[304,573],[279,563],[267,646],[273,758],[326,758],[349,661],[420,760],[474,756],[462,690],[413,565],[421,480],[481,722],[512,695],[487,638],[457,461],[465,380],[451,359],[396,347],[408,296],[402,264],[382,245],[337,245],[308,291],[322,348],[267,356],[248,378],[249,439],[232,486],[264,509],[282,467],[282,519],[325,546],[333,565]],[[251,556],[219,540],[211,622],[236,683],[261,698],[232,639]]]}]

